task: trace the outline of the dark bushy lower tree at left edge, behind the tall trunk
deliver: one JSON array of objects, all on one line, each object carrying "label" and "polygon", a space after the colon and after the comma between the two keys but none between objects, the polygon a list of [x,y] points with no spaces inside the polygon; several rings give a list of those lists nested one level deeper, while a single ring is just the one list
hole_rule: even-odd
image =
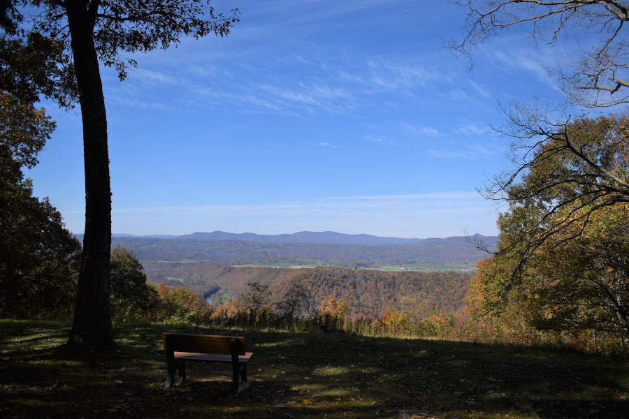
[{"label": "dark bushy lower tree at left edge, behind the tall trunk", "polygon": [[48,198],[32,196],[20,163],[0,145],[0,313],[8,317],[68,312],[80,244]]}]

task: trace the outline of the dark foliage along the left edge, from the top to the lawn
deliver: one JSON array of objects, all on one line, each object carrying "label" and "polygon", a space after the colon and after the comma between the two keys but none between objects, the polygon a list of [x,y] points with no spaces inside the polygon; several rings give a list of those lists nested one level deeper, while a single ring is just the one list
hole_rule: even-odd
[{"label": "dark foliage along the left edge, from the top to the lawn", "polygon": [[76,290],[79,242],[48,198],[32,196],[22,168],[38,163],[55,122],[35,103],[41,95],[66,103],[62,43],[25,35],[10,1],[0,3],[0,312],[42,316],[68,312]]}]

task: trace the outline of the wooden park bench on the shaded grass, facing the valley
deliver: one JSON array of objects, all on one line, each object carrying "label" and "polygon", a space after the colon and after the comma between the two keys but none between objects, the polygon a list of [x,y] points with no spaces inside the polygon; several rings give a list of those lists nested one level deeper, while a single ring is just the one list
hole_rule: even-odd
[{"label": "wooden park bench on the shaded grass, facing the valley", "polygon": [[231,390],[241,392],[249,387],[247,362],[253,355],[245,352],[245,338],[241,336],[185,335],[162,333],[168,373],[166,388],[175,384],[175,369],[186,379],[187,361],[224,362],[231,364]]}]

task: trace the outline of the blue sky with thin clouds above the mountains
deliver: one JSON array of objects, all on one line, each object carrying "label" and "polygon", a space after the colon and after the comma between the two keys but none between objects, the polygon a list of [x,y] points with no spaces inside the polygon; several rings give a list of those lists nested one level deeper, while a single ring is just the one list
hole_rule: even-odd
[{"label": "blue sky with thin clouds above the mountains", "polygon": [[[509,31],[469,71],[443,46],[465,19],[446,1],[213,4],[240,8],[229,37],[138,55],[124,82],[103,68],[114,233],[498,233],[476,192],[507,166],[490,126],[557,98],[557,48]],[[57,131],[26,175],[81,233],[80,115],[46,108]]]}]

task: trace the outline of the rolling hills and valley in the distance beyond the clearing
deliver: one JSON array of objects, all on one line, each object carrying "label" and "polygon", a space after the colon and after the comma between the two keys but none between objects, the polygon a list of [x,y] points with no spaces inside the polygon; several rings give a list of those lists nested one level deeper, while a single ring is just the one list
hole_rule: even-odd
[{"label": "rolling hills and valley in the distance beyond the clearing", "polygon": [[[405,304],[426,315],[463,307],[475,263],[488,256],[475,240],[491,250],[497,237],[215,231],[178,237],[115,235],[112,244],[136,253],[150,283],[188,286],[215,304],[238,299],[254,281],[269,286],[273,300],[300,283],[309,291],[305,310],[310,313],[326,296],[335,295],[349,302],[352,314],[375,316],[386,309],[404,309]],[[294,269],[280,269],[286,267]]]}]

